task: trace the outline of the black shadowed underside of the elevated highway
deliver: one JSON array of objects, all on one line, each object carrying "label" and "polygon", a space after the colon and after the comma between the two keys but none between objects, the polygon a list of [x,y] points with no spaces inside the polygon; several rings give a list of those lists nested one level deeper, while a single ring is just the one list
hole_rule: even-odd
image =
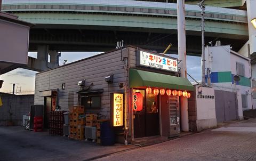
[{"label": "black shadowed underside of the elevated highway", "polygon": [[[64,27],[64,25],[62,25]],[[88,29],[66,29],[45,26],[30,30],[29,51],[37,51],[38,45],[49,45],[49,50],[56,51],[109,51],[116,47],[117,41],[124,41],[124,45],[134,45],[157,52],[163,52],[171,43],[169,53],[177,54],[178,37],[177,30],[162,32],[132,31],[124,28],[112,27],[88,27]],[[101,29],[100,29],[101,28]],[[141,29],[142,30],[142,29]],[[221,36],[221,37],[220,37]],[[234,51],[238,51],[247,39],[230,39],[223,34],[206,33],[205,42],[221,41],[221,44],[231,44]],[[239,37],[239,36],[237,36]],[[201,33],[187,31],[188,55],[201,55]],[[210,45],[210,44],[209,44]]]}]

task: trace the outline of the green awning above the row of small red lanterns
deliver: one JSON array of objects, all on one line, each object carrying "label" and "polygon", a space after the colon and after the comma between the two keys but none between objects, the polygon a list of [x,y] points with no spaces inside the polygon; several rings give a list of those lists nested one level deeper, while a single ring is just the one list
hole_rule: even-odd
[{"label": "green awning above the row of small red lanterns", "polygon": [[140,86],[194,91],[194,86],[188,81],[187,78],[130,69],[130,87]]}]

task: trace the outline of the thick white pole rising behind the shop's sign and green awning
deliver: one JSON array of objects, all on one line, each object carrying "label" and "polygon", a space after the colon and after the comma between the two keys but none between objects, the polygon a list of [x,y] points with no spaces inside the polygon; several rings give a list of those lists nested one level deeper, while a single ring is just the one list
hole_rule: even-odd
[{"label": "thick white pole rising behind the shop's sign and green awning", "polygon": [[[186,65],[186,28],[185,28],[185,0],[177,1],[177,23],[178,23],[178,55],[180,67],[180,76],[187,78],[187,65]],[[180,97],[180,118],[181,130],[184,132],[189,131],[188,126],[188,99]]]}]

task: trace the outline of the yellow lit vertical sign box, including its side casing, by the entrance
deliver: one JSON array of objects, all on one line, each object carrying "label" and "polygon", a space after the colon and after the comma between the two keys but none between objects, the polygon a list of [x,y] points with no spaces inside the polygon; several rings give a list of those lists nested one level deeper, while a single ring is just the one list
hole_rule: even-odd
[{"label": "yellow lit vertical sign box, including its side casing, by the entrance", "polygon": [[124,94],[123,93],[111,93],[110,95],[110,119],[111,125],[123,126],[124,125]]}]

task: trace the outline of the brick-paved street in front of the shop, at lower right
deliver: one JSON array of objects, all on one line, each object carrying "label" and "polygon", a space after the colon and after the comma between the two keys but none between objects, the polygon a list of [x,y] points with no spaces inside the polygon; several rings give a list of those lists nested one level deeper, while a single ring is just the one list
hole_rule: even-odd
[{"label": "brick-paved street in front of the shop, at lower right", "polygon": [[256,160],[255,127],[251,119],[98,160]]}]

